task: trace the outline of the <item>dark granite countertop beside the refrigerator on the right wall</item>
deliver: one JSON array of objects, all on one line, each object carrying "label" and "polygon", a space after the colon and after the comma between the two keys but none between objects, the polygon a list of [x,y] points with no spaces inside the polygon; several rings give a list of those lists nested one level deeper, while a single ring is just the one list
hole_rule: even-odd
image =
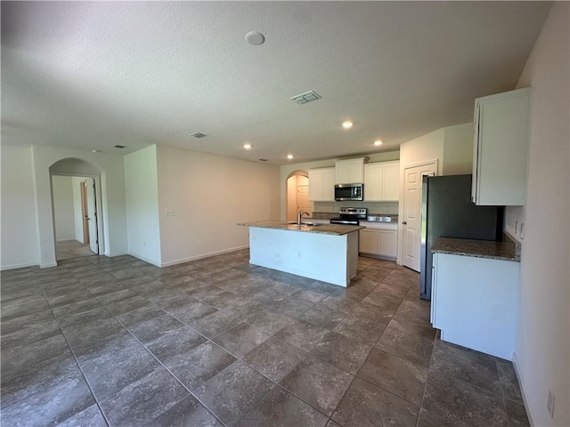
[{"label": "dark granite countertop beside the refrigerator on the right wall", "polygon": [[520,249],[510,239],[494,242],[489,240],[470,240],[468,238],[438,238],[436,243],[431,246],[431,252],[520,262]]}]

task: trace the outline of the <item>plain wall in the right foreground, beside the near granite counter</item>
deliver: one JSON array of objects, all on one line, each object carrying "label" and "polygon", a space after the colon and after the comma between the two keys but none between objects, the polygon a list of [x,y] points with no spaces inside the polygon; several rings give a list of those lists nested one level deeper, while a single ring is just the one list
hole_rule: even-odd
[{"label": "plain wall in the right foreground, beside the near granite counter", "polygon": [[525,212],[517,209],[525,239],[515,363],[526,409],[540,426],[570,425],[569,17],[570,4],[553,4],[518,82],[532,87],[532,107]]}]

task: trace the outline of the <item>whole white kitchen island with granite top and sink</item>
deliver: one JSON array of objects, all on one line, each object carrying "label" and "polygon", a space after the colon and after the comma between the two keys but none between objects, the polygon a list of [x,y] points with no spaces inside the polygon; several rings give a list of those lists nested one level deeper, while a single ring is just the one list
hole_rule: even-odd
[{"label": "whole white kitchen island with granite top and sink", "polygon": [[358,266],[357,225],[242,222],[249,227],[249,263],[348,286]]}]

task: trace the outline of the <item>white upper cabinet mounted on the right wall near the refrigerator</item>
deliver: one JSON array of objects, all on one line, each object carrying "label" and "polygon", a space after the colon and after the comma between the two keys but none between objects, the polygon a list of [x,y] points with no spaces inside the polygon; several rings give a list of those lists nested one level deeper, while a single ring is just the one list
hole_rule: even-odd
[{"label": "white upper cabinet mounted on the right wall near the refrigerator", "polygon": [[530,88],[475,101],[471,198],[476,205],[525,205]]}]

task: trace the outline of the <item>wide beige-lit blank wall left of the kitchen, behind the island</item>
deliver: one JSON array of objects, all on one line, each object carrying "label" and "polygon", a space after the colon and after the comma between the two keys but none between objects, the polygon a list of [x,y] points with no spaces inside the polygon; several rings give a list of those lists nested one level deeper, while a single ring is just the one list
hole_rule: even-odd
[{"label": "wide beige-lit blank wall left of the kitchen, behind the island", "polygon": [[238,222],[280,216],[279,166],[160,146],[158,173],[162,265],[248,246]]}]

